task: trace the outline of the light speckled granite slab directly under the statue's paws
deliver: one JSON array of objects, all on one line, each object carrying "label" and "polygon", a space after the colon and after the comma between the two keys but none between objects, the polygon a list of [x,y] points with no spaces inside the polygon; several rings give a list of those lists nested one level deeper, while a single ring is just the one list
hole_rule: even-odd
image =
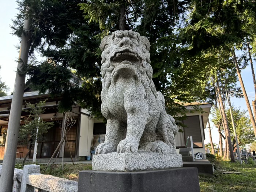
[{"label": "light speckled granite slab directly under the statue's paws", "polygon": [[180,154],[172,153],[109,153],[93,157],[93,170],[100,171],[141,171],[182,167]]}]

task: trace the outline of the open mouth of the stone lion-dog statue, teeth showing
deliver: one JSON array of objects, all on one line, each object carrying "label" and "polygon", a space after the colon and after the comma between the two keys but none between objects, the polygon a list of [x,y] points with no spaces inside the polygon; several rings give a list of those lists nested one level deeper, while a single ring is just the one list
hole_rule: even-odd
[{"label": "open mouth of the stone lion-dog statue, teeth showing", "polygon": [[117,50],[110,58],[114,62],[130,61],[130,62],[142,62],[142,59],[137,53],[132,52],[130,49]]}]

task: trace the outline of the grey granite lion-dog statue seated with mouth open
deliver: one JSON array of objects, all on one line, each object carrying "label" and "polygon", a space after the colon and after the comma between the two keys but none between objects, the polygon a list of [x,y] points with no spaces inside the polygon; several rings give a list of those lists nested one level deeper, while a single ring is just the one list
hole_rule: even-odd
[{"label": "grey granite lion-dog statue seated with mouth open", "polygon": [[[95,154],[139,150],[176,153],[177,125],[153,83],[150,43],[134,31],[115,31],[102,39],[101,112],[107,119],[105,142]],[[123,139],[124,131],[126,138]]]}]

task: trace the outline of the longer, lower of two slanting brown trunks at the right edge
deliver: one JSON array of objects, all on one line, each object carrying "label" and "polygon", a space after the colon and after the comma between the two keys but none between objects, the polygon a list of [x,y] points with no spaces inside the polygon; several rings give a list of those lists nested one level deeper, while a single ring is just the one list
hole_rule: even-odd
[{"label": "longer, lower of two slanting brown trunks at the right edge", "polygon": [[243,91],[243,94],[244,94],[244,99],[245,99],[245,103],[246,103],[246,106],[247,106],[247,109],[248,109],[248,113],[249,113],[249,116],[250,116],[250,119],[251,119],[251,122],[252,122],[253,131],[254,131],[254,134],[256,136],[256,123],[255,123],[255,119],[254,119],[253,114],[252,114],[252,109],[251,109],[251,106],[250,106],[250,102],[249,102],[249,99],[247,97],[247,93],[246,93],[246,90],[245,90],[245,87],[244,87],[244,82],[242,80],[242,76],[241,76],[240,69],[239,69],[239,66],[238,66],[238,63],[237,63],[237,58],[236,58],[236,53],[235,53],[234,48],[232,49],[232,52],[233,52],[234,63],[236,65],[236,69],[237,69],[237,76],[238,76],[238,79],[239,79],[239,82],[240,82],[240,85],[241,85],[241,88],[242,88],[242,91]]}]

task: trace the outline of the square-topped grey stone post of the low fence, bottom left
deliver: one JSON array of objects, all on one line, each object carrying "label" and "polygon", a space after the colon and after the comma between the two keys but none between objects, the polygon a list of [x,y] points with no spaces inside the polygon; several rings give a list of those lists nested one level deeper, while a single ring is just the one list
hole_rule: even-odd
[{"label": "square-topped grey stone post of the low fence, bottom left", "polygon": [[25,165],[21,180],[20,192],[33,192],[34,187],[27,185],[27,177],[31,173],[40,173],[40,165]]}]

